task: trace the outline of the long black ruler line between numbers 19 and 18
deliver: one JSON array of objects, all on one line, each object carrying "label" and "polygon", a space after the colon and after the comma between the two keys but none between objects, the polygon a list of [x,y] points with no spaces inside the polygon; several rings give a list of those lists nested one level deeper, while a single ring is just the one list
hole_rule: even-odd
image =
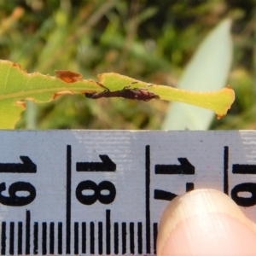
[{"label": "long black ruler line between numbers 19 and 18", "polygon": [[71,242],[71,146],[67,145],[67,205],[66,205],[66,253],[70,254]]}]

